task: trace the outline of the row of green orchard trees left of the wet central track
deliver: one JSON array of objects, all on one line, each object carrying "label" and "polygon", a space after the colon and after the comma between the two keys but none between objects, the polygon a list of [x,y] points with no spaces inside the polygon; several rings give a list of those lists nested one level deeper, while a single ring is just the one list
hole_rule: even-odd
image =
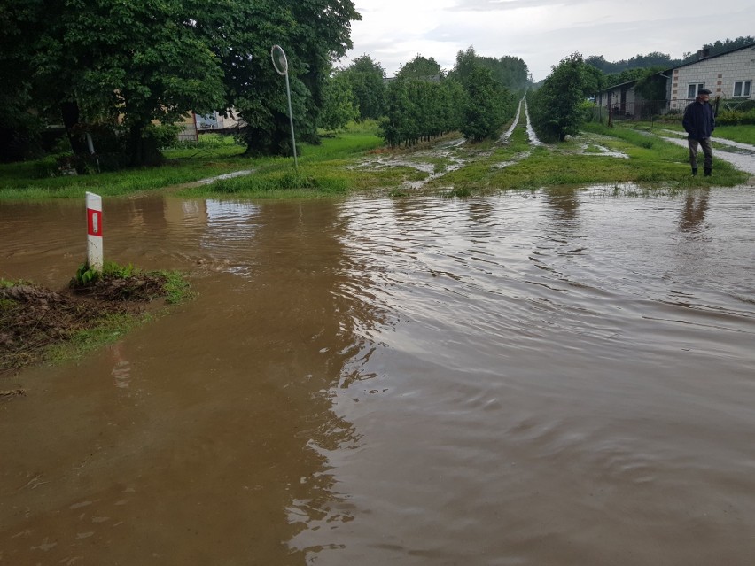
[{"label": "row of green orchard trees left of the wet central track", "polygon": [[480,57],[472,47],[459,51],[448,73],[434,58],[417,55],[391,80],[364,55],[331,78],[321,125],[336,129],[354,117],[380,120],[381,135],[392,146],[456,130],[480,141],[510,120],[529,84],[522,59]]}]

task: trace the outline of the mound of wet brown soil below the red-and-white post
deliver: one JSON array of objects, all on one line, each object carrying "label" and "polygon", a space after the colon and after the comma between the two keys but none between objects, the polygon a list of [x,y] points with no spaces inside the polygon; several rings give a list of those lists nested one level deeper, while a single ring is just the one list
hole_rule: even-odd
[{"label": "mound of wet brown soil below the red-and-white post", "polygon": [[[141,314],[166,294],[158,273],[105,277],[88,285],[72,281],[62,291],[32,283],[0,289],[0,378],[43,361],[51,346],[71,342],[113,314]],[[0,399],[23,395],[22,388],[0,391]]]}]

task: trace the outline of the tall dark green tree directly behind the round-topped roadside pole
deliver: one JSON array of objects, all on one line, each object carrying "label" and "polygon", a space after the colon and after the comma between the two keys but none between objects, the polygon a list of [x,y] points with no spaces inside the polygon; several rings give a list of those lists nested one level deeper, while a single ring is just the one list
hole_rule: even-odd
[{"label": "tall dark green tree directly behind the round-topped roadside pole", "polygon": [[[230,49],[223,56],[229,106],[244,119],[248,152],[291,152],[284,77],[276,74],[270,47],[288,58],[297,138],[317,142],[323,89],[334,59],[352,46],[351,22],[361,19],[351,0],[230,0],[223,15]],[[230,17],[230,22],[229,22]],[[354,89],[353,89],[354,90]],[[354,95],[356,92],[354,91]]]}]

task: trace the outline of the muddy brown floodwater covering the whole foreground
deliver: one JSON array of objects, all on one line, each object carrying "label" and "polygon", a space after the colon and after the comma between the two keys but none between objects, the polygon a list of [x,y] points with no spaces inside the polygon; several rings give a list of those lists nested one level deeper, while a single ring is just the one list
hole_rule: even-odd
[{"label": "muddy brown floodwater covering the whole foreground", "polygon": [[[198,296],[5,380],[0,563],[755,563],[755,192],[105,198]],[[0,203],[63,286],[83,203]]]}]

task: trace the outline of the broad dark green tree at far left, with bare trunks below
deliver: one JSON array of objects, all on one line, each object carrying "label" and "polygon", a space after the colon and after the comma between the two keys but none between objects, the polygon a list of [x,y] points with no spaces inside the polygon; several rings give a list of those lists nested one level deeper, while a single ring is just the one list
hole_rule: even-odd
[{"label": "broad dark green tree at far left, with bare trunks below", "polygon": [[[4,4],[14,10],[14,3]],[[124,130],[133,165],[150,163],[157,155],[147,135],[152,120],[170,122],[191,109],[222,105],[222,69],[196,25],[206,12],[201,3],[23,5],[15,19],[20,32],[15,63],[28,72],[24,103],[52,121],[62,120],[74,150],[85,150],[81,133],[88,125],[109,123]],[[7,38],[4,30],[0,35]]]}]

